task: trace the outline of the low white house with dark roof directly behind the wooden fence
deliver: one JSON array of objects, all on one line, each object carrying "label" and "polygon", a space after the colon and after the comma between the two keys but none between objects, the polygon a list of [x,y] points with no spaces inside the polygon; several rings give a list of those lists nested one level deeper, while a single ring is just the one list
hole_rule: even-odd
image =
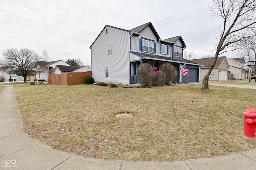
[{"label": "low white house with dark roof directly behind the wooden fence", "polygon": [[61,74],[63,72],[86,72],[91,71],[91,66],[62,66],[56,65],[53,74]]}]

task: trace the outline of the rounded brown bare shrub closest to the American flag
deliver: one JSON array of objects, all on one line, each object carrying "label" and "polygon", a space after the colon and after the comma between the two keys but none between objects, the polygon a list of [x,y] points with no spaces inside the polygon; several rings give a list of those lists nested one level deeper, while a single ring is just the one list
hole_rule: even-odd
[{"label": "rounded brown bare shrub closest to the American flag", "polygon": [[166,74],[164,84],[172,83],[172,80],[178,75],[176,68],[170,63],[162,64],[160,70]]}]

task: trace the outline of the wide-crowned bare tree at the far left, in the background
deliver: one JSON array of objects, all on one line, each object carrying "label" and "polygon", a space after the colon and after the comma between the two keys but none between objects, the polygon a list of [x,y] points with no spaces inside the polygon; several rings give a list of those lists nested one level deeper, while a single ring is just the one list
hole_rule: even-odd
[{"label": "wide-crowned bare tree at the far left, in the background", "polygon": [[0,65],[5,68],[6,72],[12,72],[13,70],[19,70],[21,75],[26,77],[29,74],[34,73],[34,64],[38,61],[38,54],[31,49],[6,49],[2,52],[2,58],[0,59]]}]

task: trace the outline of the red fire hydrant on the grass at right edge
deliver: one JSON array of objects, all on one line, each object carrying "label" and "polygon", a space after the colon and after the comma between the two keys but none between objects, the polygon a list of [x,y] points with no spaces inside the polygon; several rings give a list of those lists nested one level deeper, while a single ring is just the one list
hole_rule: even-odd
[{"label": "red fire hydrant on the grass at right edge", "polygon": [[250,106],[244,112],[244,136],[249,138],[255,137],[256,131],[256,111]]}]

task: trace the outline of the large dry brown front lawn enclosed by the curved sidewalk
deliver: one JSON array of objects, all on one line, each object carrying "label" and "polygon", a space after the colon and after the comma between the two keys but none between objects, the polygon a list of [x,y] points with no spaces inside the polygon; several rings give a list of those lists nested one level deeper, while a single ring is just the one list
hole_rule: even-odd
[{"label": "large dry brown front lawn enclosed by the curved sidewalk", "polygon": [[[256,148],[243,136],[252,89],[15,86],[24,130],[55,149],[107,160],[172,161]],[[255,107],[255,106],[254,106]],[[133,113],[132,118],[115,115]]]}]

